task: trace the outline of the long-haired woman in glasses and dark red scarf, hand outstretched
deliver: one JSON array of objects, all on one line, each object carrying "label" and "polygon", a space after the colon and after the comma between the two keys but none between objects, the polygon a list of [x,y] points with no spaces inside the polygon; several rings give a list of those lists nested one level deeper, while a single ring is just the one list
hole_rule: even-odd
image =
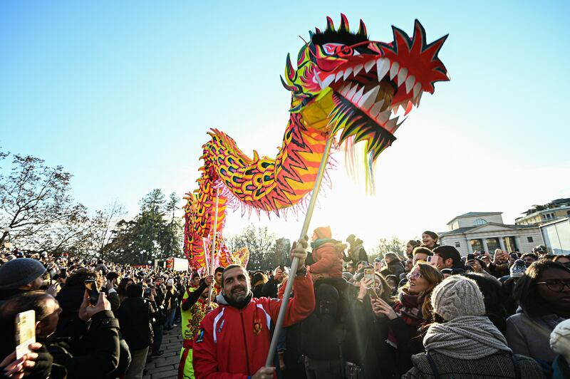
[{"label": "long-haired woman in glasses and dark red scarf, hand outstretched", "polygon": [[383,299],[373,300],[376,315],[388,318],[388,343],[396,348],[400,374],[412,367],[411,356],[424,351],[420,328],[433,320],[431,294],[443,280],[434,266],[418,263],[408,275],[394,306]]}]

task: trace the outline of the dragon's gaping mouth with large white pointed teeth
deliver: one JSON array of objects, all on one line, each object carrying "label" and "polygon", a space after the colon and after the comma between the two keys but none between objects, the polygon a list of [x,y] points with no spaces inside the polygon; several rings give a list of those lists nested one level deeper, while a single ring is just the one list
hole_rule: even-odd
[{"label": "dragon's gaping mouth with large white pointed teeth", "polygon": [[408,68],[383,57],[345,66],[321,83],[326,85],[390,134],[402,125],[405,119],[398,123],[400,118],[419,105],[423,92]]}]

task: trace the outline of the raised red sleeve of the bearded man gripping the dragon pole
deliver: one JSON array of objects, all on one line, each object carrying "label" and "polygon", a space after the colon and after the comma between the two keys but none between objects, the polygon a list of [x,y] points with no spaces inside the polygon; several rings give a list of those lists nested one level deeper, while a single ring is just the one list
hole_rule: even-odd
[{"label": "raised red sleeve of the bearded man gripping the dragon pole", "polygon": [[[291,280],[291,277],[289,277]],[[315,310],[315,290],[311,274],[304,277],[296,277],[293,282],[295,297],[290,298],[285,312],[283,326],[291,326],[307,318]],[[261,299],[260,299],[261,300]],[[263,298],[264,308],[269,312],[271,320],[277,321],[281,300],[276,298]]]}]

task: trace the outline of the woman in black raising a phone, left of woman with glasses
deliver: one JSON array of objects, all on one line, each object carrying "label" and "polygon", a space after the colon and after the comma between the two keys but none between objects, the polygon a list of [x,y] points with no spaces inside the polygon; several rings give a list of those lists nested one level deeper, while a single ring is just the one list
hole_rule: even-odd
[{"label": "woman in black raising a phone, left of woman with glasses", "polygon": [[363,378],[399,378],[394,364],[395,351],[385,343],[388,338],[387,319],[384,315],[375,314],[372,308],[375,298],[394,303],[390,286],[379,272],[375,272],[374,281],[363,277],[357,287],[358,294],[349,313],[351,323],[344,349],[346,360],[360,368]]}]

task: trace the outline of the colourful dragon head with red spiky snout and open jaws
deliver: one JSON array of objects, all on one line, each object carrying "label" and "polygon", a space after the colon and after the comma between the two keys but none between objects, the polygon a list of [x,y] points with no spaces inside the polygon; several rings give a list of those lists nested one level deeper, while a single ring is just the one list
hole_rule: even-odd
[{"label": "colourful dragon head with red spiky snout and open jaws", "polygon": [[353,33],[344,14],[338,28],[327,17],[325,31],[309,32],[296,70],[287,56],[281,78],[292,93],[290,111],[301,114],[301,123],[332,134],[343,130],[340,142],[365,141],[368,162],[395,140],[423,91],[433,93],[435,82],[449,80],[437,58],[447,36],[426,43],[418,20],[411,38],[392,29],[392,42],[371,41],[362,20]]}]

